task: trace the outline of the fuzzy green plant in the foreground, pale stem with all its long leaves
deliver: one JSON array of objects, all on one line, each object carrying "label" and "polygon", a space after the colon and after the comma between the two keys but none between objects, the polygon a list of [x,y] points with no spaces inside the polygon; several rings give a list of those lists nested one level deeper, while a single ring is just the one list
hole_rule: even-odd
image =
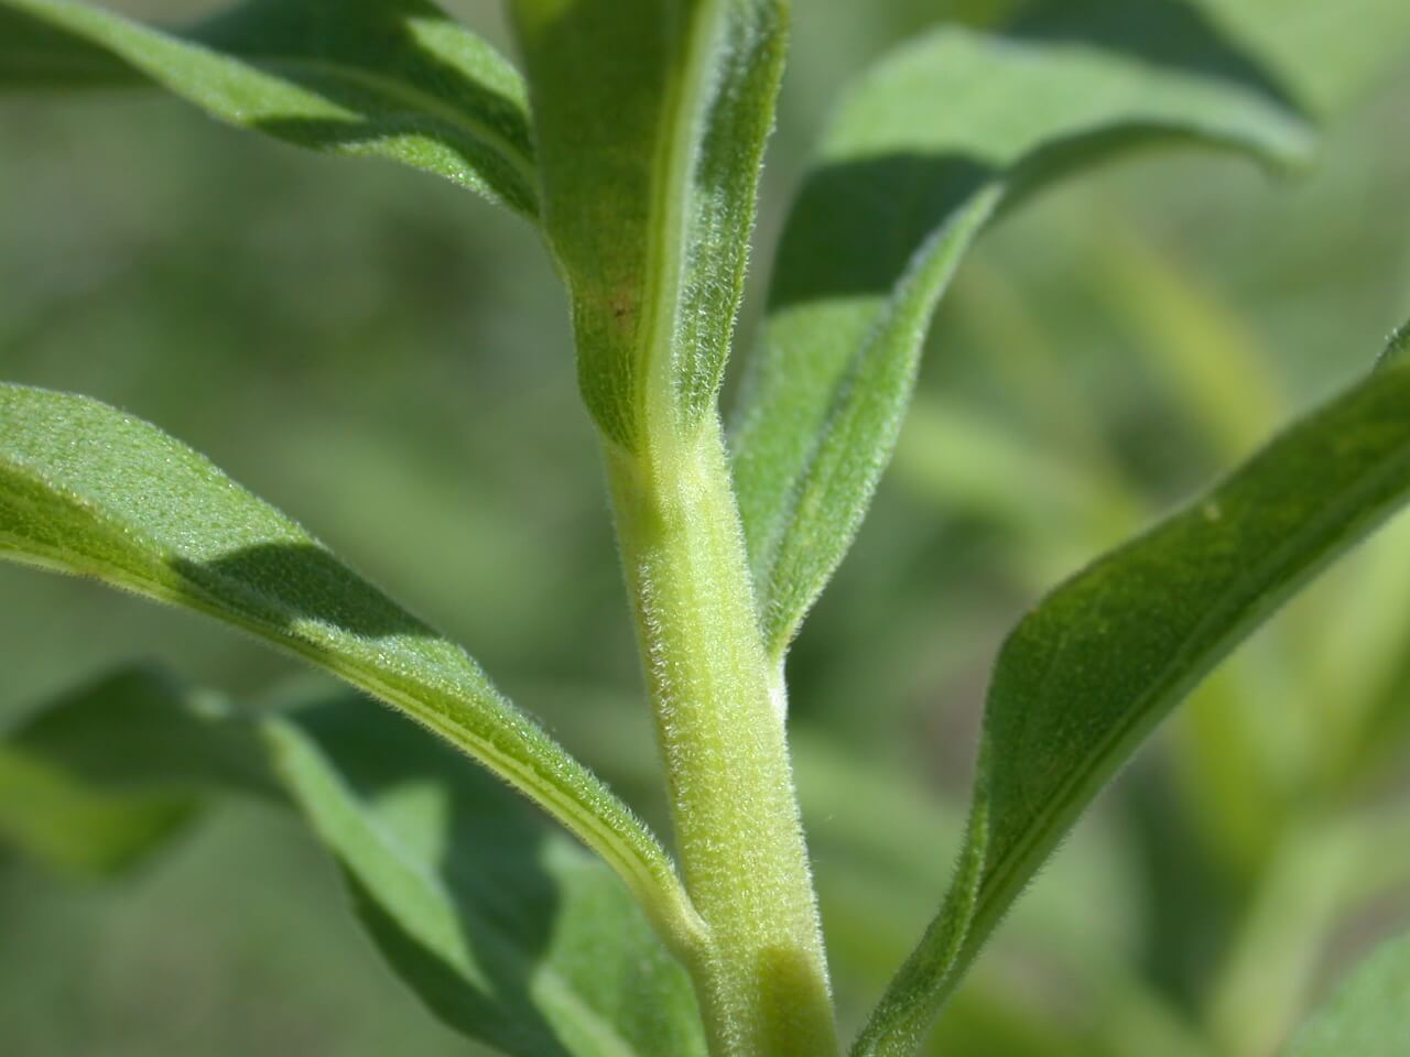
[{"label": "fuzzy green plant in the foreground, pale stem with all its long leaves", "polygon": [[[288,806],[395,971],[498,1053],[918,1053],[1138,746],[1410,496],[1402,334],[1379,362],[1348,351],[1365,364],[1349,388],[1028,612],[994,664],[949,892],[840,1036],[785,661],[897,448],[952,276],[995,218],[1117,152],[1244,155],[1275,179],[1310,163],[1328,100],[1371,65],[1307,47],[1328,32],[1318,0],[1010,7],[988,28],[936,21],[843,90],[722,416],[785,0],[508,0],[516,59],[430,0],[245,0],[183,30],[0,0],[7,89],[165,90],[448,179],[537,233],[601,444],[671,834],[210,461],[116,407],[11,383],[0,557],[213,617],[381,706],[320,688],[251,709],[134,667],[11,731],[0,832],[104,868],[161,844],[197,798]],[[1392,0],[1358,11],[1382,20],[1378,47],[1410,37]],[[1032,490],[1029,472],[995,486]],[[413,775],[437,798],[393,795]],[[1407,972],[1402,939],[1289,1053],[1410,1053]]]}]

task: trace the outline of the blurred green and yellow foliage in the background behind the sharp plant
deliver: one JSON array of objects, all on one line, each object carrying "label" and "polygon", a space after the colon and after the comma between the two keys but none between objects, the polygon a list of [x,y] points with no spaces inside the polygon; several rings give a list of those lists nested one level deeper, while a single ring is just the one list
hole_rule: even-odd
[{"label": "blurred green and yellow foliage in the background behind the sharp plant", "polygon": [[[450,7],[505,41],[491,4]],[[908,31],[1000,7],[797,4],[736,359],[839,86]],[[1407,99],[1410,56],[1292,178],[1190,152],[1108,165],[962,269],[894,469],[790,669],[849,1025],[943,891],[1017,614],[1363,372],[1410,314]],[[35,94],[0,97],[0,233],[6,381],[120,404],[209,454],[465,643],[664,827],[564,299],[527,225],[155,96]],[[1266,1057],[1410,925],[1407,583],[1402,517],[1225,665],[1042,875],[933,1051]],[[241,695],[295,671],[214,624],[7,567],[0,643],[0,724],[134,657]],[[102,885],[3,855],[6,1057],[470,1051],[381,965],[282,815],[214,805]]]}]

